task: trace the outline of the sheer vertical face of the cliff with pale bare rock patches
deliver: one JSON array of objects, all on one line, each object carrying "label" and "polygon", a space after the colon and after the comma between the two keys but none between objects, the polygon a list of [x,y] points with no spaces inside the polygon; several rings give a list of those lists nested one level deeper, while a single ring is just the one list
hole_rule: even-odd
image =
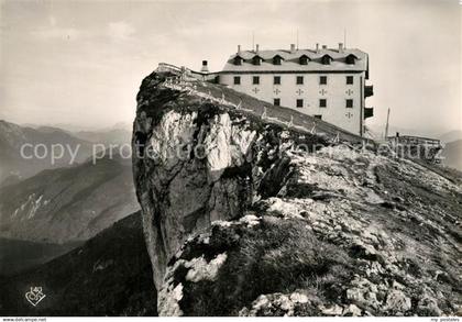
[{"label": "sheer vertical face of the cliff with pale bare rock patches", "polygon": [[134,180],[157,287],[188,236],[242,216],[258,187],[272,185],[263,178],[270,166],[279,166],[284,181],[288,165],[277,155],[282,129],[182,96],[163,80],[153,74],[143,81],[133,134]]}]

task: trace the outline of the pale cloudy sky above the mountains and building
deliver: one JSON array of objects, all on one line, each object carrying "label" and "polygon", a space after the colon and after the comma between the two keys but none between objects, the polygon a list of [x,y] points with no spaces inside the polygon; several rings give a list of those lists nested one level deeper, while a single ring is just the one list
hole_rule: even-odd
[{"label": "pale cloudy sky above the mountains and building", "polygon": [[238,44],[316,43],[370,55],[372,127],[462,130],[458,0],[0,0],[0,119],[107,127],[132,122],[158,63],[220,70]]}]

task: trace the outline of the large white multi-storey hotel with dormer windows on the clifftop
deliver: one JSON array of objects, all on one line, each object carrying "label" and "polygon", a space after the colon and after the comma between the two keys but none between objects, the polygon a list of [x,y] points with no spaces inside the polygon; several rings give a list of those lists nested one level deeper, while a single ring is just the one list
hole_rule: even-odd
[{"label": "large white multi-storey hotel with dormer windows on the clifftop", "polygon": [[[207,64],[207,63],[206,63]],[[241,51],[231,55],[219,84],[274,106],[295,109],[363,135],[364,120],[373,115],[365,98],[373,95],[369,56],[339,47],[289,51]]]}]

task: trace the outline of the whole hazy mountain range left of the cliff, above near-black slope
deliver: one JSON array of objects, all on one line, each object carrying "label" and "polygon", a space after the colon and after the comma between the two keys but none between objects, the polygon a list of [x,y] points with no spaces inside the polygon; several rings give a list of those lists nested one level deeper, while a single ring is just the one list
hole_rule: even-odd
[{"label": "whole hazy mountain range left of the cliff, above near-black slope", "polygon": [[[91,159],[94,143],[128,142],[118,127],[70,133],[0,121],[0,274],[50,260],[139,209],[131,159]],[[52,164],[24,159],[23,144],[79,149],[74,164],[68,154]]]}]

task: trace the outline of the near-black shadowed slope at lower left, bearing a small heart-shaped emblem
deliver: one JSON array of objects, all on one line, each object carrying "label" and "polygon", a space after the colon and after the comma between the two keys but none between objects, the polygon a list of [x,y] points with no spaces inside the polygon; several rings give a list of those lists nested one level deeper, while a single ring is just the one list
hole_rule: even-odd
[{"label": "near-black shadowed slope at lower left, bearing a small heart-shaped emblem", "polygon": [[[0,277],[0,315],[155,317],[152,275],[136,212],[68,254]],[[31,287],[42,287],[46,296],[36,307],[24,297]]]}]

